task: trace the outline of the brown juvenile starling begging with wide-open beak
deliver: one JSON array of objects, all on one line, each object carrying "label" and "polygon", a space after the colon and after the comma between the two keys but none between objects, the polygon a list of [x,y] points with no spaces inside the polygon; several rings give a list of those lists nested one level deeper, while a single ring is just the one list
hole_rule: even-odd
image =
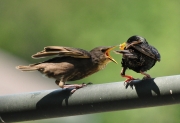
[{"label": "brown juvenile starling begging with wide-open beak", "polygon": [[113,61],[110,51],[115,47],[96,47],[90,52],[63,46],[47,46],[43,51],[32,55],[32,58],[43,58],[56,55],[56,57],[29,66],[17,66],[22,71],[38,70],[49,78],[56,79],[56,84],[61,88],[75,88],[73,92],[84,86],[84,84],[68,85],[66,81],[75,81],[83,79],[99,70]]}]

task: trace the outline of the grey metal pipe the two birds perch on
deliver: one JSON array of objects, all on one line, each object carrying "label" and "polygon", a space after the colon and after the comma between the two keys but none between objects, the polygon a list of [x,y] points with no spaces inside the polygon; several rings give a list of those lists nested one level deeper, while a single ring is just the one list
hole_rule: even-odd
[{"label": "grey metal pipe the two birds perch on", "polygon": [[0,122],[19,122],[180,103],[180,75],[0,96]]}]

